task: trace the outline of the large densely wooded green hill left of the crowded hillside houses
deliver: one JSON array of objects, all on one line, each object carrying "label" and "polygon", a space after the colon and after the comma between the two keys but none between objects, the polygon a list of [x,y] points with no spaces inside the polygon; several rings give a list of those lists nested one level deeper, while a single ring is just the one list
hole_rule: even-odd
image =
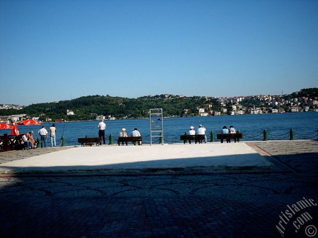
[{"label": "large densely wooded green hill left of the crowded hillside houses", "polygon": [[[196,107],[203,107],[206,102],[214,102],[215,99],[193,96],[190,98],[165,98],[165,95],[141,98],[123,98],[111,96],[83,96],[73,100],[37,103],[29,105],[21,110],[0,110],[0,115],[27,114],[38,116],[45,114],[52,120],[64,118],[66,120],[91,120],[97,115],[112,115],[115,117],[142,118],[149,116],[149,109],[162,108],[164,116],[180,116],[183,109],[190,109],[195,113]],[[215,106],[218,107],[218,106]],[[75,115],[66,116],[66,110],[73,110]],[[44,120],[40,118],[40,120]]]}]

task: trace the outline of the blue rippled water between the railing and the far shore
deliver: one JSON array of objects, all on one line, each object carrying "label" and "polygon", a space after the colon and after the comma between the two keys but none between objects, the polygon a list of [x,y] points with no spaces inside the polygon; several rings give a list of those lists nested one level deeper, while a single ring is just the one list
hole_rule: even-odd
[{"label": "blue rippled water between the railing and the far shore", "polygon": [[[63,134],[65,145],[79,145],[77,138],[98,137],[99,121],[88,122],[59,122],[55,123],[56,140],[60,144],[60,138]],[[126,128],[128,136],[137,128],[144,143],[150,143],[150,121],[149,119],[132,119],[132,120],[114,120],[105,121],[106,123],[106,140],[109,143],[109,135],[113,135],[115,140],[121,128]],[[52,123],[51,123],[52,124]],[[194,126],[195,130],[198,125],[202,124],[206,128],[208,141],[210,141],[210,132],[220,133],[223,126],[233,127],[243,133],[242,141],[263,140],[263,130],[266,129],[268,140],[288,140],[289,130],[294,131],[294,139],[317,139],[318,113],[281,113],[281,114],[258,114],[258,115],[236,115],[236,116],[205,116],[205,117],[176,117],[163,118],[164,143],[180,143],[180,135],[184,135]],[[42,125],[46,129],[50,127],[49,123],[42,123],[40,126],[17,126],[20,133],[34,131],[34,138],[38,137],[38,130]],[[1,133],[10,134],[10,130],[1,130]],[[218,141],[218,140],[216,140]],[[115,141],[114,141],[115,142]],[[159,143],[158,138],[153,138],[153,142]]]}]

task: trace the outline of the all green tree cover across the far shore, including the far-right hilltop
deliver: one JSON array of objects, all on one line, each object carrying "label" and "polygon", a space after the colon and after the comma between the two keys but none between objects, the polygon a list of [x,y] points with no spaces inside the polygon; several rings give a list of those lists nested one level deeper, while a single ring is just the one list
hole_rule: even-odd
[{"label": "all green tree cover across the far shore, including the far-right hilltop", "polygon": [[[280,96],[279,96],[280,97]],[[299,92],[294,92],[290,95],[284,95],[285,100],[294,97],[308,97],[317,98],[318,88],[301,89]],[[229,98],[222,98],[226,105],[222,108],[228,111],[232,110],[233,101]],[[65,120],[94,120],[98,115],[115,116],[116,118],[144,118],[149,117],[149,109],[162,108],[164,116],[180,116],[187,110],[187,115],[198,115],[197,107],[203,108],[204,104],[210,104],[205,108],[205,111],[214,110],[220,111],[221,106],[218,98],[202,97],[202,96],[172,96],[167,94],[155,96],[143,96],[139,98],[125,98],[125,97],[112,97],[112,96],[83,96],[73,100],[37,103],[32,104],[23,109],[2,109],[0,115],[9,116],[14,114],[27,114],[31,117],[38,117],[40,121],[45,121],[45,118],[65,119]],[[234,102],[236,103],[236,102]],[[305,101],[303,101],[305,103]],[[268,110],[272,107],[271,103],[265,104],[265,98],[246,97],[239,102],[240,107],[243,106],[245,113],[253,106],[259,106]],[[304,106],[301,104],[300,106]],[[284,105],[287,108],[287,105]],[[72,110],[74,115],[66,115],[66,110]],[[225,110],[226,114],[226,110]]]}]

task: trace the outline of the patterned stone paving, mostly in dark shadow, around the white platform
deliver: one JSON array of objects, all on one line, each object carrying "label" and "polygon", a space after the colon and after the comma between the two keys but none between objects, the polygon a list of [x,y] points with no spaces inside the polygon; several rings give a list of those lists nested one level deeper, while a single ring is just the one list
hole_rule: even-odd
[{"label": "patterned stone paving, mostly in dark shadow, around the white platform", "polygon": [[[275,169],[2,175],[1,237],[318,237],[318,206],[282,215],[303,197],[318,203],[318,142],[249,144]],[[3,152],[0,163],[59,149]]]}]

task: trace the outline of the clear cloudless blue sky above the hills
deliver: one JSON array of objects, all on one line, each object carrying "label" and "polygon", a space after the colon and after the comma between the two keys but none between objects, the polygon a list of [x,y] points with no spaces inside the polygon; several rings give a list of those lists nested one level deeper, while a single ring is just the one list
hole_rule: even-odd
[{"label": "clear cloudless blue sky above the hills", "polygon": [[0,1],[0,103],[318,87],[315,1]]}]

